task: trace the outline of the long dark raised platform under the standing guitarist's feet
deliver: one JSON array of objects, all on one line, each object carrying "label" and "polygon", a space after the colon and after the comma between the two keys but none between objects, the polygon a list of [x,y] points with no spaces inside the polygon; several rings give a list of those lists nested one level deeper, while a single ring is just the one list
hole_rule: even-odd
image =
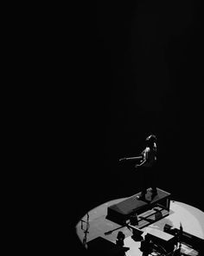
[{"label": "long dark raised platform under the standing guitarist's feet", "polygon": [[[165,212],[165,215],[169,212],[170,194],[163,191],[161,188],[157,188],[158,194],[151,199],[150,188],[147,190],[145,200],[138,200],[134,194],[126,200],[119,202],[107,208],[106,219],[112,220],[118,224],[123,225],[126,220],[130,220],[132,215],[138,215],[147,211],[150,211],[155,207],[157,212]],[[144,225],[140,225],[143,219],[138,220],[138,228],[142,228]]]}]

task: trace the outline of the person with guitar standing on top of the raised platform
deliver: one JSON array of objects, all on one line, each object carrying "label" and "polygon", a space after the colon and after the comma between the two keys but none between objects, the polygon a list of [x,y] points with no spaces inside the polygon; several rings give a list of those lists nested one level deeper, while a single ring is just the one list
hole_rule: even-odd
[{"label": "person with guitar standing on top of the raised platform", "polygon": [[157,194],[156,189],[156,135],[150,135],[146,138],[146,148],[143,152],[143,161],[137,164],[135,167],[139,168],[141,171],[143,184],[142,193],[137,199],[145,200],[145,194],[147,193],[147,188],[151,187],[152,198]]}]

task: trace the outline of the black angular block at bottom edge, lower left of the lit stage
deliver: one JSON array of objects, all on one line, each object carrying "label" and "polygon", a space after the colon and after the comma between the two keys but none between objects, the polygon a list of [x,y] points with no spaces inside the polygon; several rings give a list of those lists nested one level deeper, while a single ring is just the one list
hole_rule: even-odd
[{"label": "black angular block at bottom edge, lower left of the lit stage", "polygon": [[129,247],[117,246],[100,236],[87,242],[87,252],[91,256],[124,256],[129,249]]}]

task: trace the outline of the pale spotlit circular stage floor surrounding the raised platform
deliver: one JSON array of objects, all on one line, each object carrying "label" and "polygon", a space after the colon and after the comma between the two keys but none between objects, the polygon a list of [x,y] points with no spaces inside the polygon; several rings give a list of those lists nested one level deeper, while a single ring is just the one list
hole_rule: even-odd
[{"label": "pale spotlit circular stage floor surrounding the raised platform", "polygon": [[[107,207],[118,204],[125,199],[108,201],[99,207],[93,208],[81,218],[76,225],[76,233],[84,246],[87,247],[90,241],[96,240],[97,238],[116,244],[118,232],[121,231],[125,235],[124,246],[129,248],[125,252],[125,255],[143,255],[139,249],[141,242],[132,239],[132,230],[128,226],[121,226],[112,220],[106,219]],[[168,216],[141,228],[141,231],[143,231],[142,236],[144,237],[146,233],[154,230],[163,231],[165,225],[179,229],[181,223],[185,233],[190,233],[201,240],[204,239],[204,213],[195,207],[175,200],[170,200]],[[188,246],[182,246],[182,252],[186,255],[197,255],[193,248],[189,248]]]}]

